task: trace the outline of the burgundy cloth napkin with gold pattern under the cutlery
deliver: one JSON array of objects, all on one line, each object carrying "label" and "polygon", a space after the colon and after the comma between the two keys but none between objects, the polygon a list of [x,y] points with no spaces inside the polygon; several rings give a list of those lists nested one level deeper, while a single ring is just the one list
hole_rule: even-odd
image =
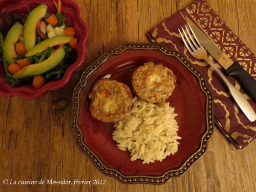
[{"label": "burgundy cloth napkin with gold pattern under the cutlery", "polygon": [[[256,58],[204,0],[195,1],[147,33],[147,37],[152,42],[158,42],[170,49],[179,51],[194,64],[195,68],[201,71],[214,97],[216,126],[237,149],[243,148],[256,137],[256,121],[250,122],[240,111],[230,97],[224,82],[214,70],[202,60],[195,59],[184,48],[178,28],[186,24],[185,16],[188,16],[201,27],[222,51],[233,61],[238,61],[254,78],[256,78]],[[222,67],[217,62],[215,63],[224,73]],[[256,103],[244,93],[240,84],[233,77],[226,77],[233,86],[244,94],[252,108],[256,110]]]}]

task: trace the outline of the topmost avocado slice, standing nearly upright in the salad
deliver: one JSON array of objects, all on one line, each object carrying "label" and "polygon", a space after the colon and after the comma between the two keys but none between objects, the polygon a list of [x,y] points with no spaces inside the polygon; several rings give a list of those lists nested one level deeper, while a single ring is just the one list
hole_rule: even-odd
[{"label": "topmost avocado slice, standing nearly upright in the salad", "polygon": [[24,29],[24,42],[27,51],[35,46],[36,25],[41,18],[45,17],[46,12],[47,5],[41,4],[29,13]]}]

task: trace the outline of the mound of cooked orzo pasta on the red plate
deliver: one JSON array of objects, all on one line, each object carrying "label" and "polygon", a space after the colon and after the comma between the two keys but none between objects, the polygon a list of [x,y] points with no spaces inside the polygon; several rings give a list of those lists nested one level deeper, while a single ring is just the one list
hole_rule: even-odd
[{"label": "mound of cooked orzo pasta on the red plate", "polygon": [[129,115],[115,122],[113,139],[120,150],[131,152],[131,161],[162,161],[178,151],[176,116],[168,102],[154,104],[134,97]]}]

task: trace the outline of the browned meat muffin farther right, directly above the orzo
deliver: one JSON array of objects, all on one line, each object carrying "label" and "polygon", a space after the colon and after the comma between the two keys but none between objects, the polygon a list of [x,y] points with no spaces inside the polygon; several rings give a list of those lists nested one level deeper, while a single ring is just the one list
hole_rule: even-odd
[{"label": "browned meat muffin farther right, directly above the orzo", "polygon": [[133,90],[144,101],[162,102],[172,94],[176,79],[173,71],[162,64],[147,62],[133,73]]}]

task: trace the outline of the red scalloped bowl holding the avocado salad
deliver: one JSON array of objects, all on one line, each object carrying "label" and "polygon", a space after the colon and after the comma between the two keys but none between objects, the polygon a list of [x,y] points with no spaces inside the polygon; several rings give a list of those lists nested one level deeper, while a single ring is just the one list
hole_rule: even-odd
[{"label": "red scalloped bowl holding the avocado salad", "polygon": [[[62,0],[61,13],[66,16],[66,23],[72,24],[75,28],[75,37],[78,39],[77,60],[72,63],[65,72],[65,75],[59,80],[50,81],[45,86],[36,89],[32,85],[11,87],[9,82],[3,78],[5,73],[3,62],[0,61],[0,95],[1,96],[19,96],[23,98],[36,98],[44,95],[50,90],[56,90],[66,86],[74,71],[82,67],[86,58],[86,44],[89,35],[89,29],[81,17],[81,11],[73,1]],[[40,4],[46,4],[49,12],[56,12],[53,0],[26,0],[26,1],[1,1],[0,12],[24,13],[32,10]]]}]

